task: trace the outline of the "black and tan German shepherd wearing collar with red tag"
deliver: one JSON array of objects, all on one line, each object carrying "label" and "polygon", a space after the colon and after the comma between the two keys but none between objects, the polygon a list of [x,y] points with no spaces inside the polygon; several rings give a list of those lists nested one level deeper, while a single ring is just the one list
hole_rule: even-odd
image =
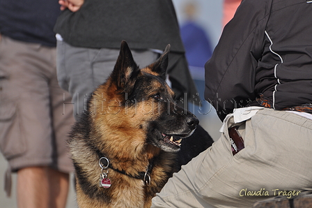
[{"label": "black and tan German shepherd wearing collar with red tag", "polygon": [[169,49],[140,69],[123,41],[113,72],[72,128],[80,208],[150,207],[176,171],[181,140],[194,132],[198,119],[175,105],[166,84]]}]

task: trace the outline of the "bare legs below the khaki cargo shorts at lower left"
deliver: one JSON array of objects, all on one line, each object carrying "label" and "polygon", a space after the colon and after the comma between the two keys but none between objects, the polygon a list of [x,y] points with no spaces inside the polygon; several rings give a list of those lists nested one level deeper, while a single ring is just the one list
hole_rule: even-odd
[{"label": "bare legs below the khaki cargo shorts at lower left", "polygon": [[65,208],[69,174],[48,167],[23,168],[17,172],[19,208]]}]

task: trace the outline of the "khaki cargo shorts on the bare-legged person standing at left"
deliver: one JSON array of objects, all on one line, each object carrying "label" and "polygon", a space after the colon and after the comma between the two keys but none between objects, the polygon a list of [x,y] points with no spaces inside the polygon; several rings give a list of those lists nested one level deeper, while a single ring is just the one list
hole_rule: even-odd
[{"label": "khaki cargo shorts on the bare-legged person standing at left", "polygon": [[72,172],[66,139],[75,121],[56,79],[56,49],[0,39],[0,150],[9,171],[49,166]]}]

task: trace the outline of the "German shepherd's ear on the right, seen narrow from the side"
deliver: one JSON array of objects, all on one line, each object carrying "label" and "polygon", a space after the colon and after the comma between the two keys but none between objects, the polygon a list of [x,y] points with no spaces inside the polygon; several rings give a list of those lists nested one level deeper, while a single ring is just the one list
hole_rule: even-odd
[{"label": "German shepherd's ear on the right, seen narrow from the side", "polygon": [[168,67],[169,62],[169,51],[170,51],[170,44],[168,44],[162,53],[162,55],[157,59],[153,64],[150,64],[150,69],[157,73],[159,77],[166,80],[166,70]]}]

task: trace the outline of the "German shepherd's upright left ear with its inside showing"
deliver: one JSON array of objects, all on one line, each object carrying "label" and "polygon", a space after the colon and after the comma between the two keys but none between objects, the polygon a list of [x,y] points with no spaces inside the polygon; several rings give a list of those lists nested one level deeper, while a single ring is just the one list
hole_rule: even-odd
[{"label": "German shepherd's upright left ear with its inside showing", "polygon": [[129,91],[132,89],[137,75],[140,73],[139,66],[135,63],[127,42],[123,40],[116,61],[112,77],[118,89]]}]

